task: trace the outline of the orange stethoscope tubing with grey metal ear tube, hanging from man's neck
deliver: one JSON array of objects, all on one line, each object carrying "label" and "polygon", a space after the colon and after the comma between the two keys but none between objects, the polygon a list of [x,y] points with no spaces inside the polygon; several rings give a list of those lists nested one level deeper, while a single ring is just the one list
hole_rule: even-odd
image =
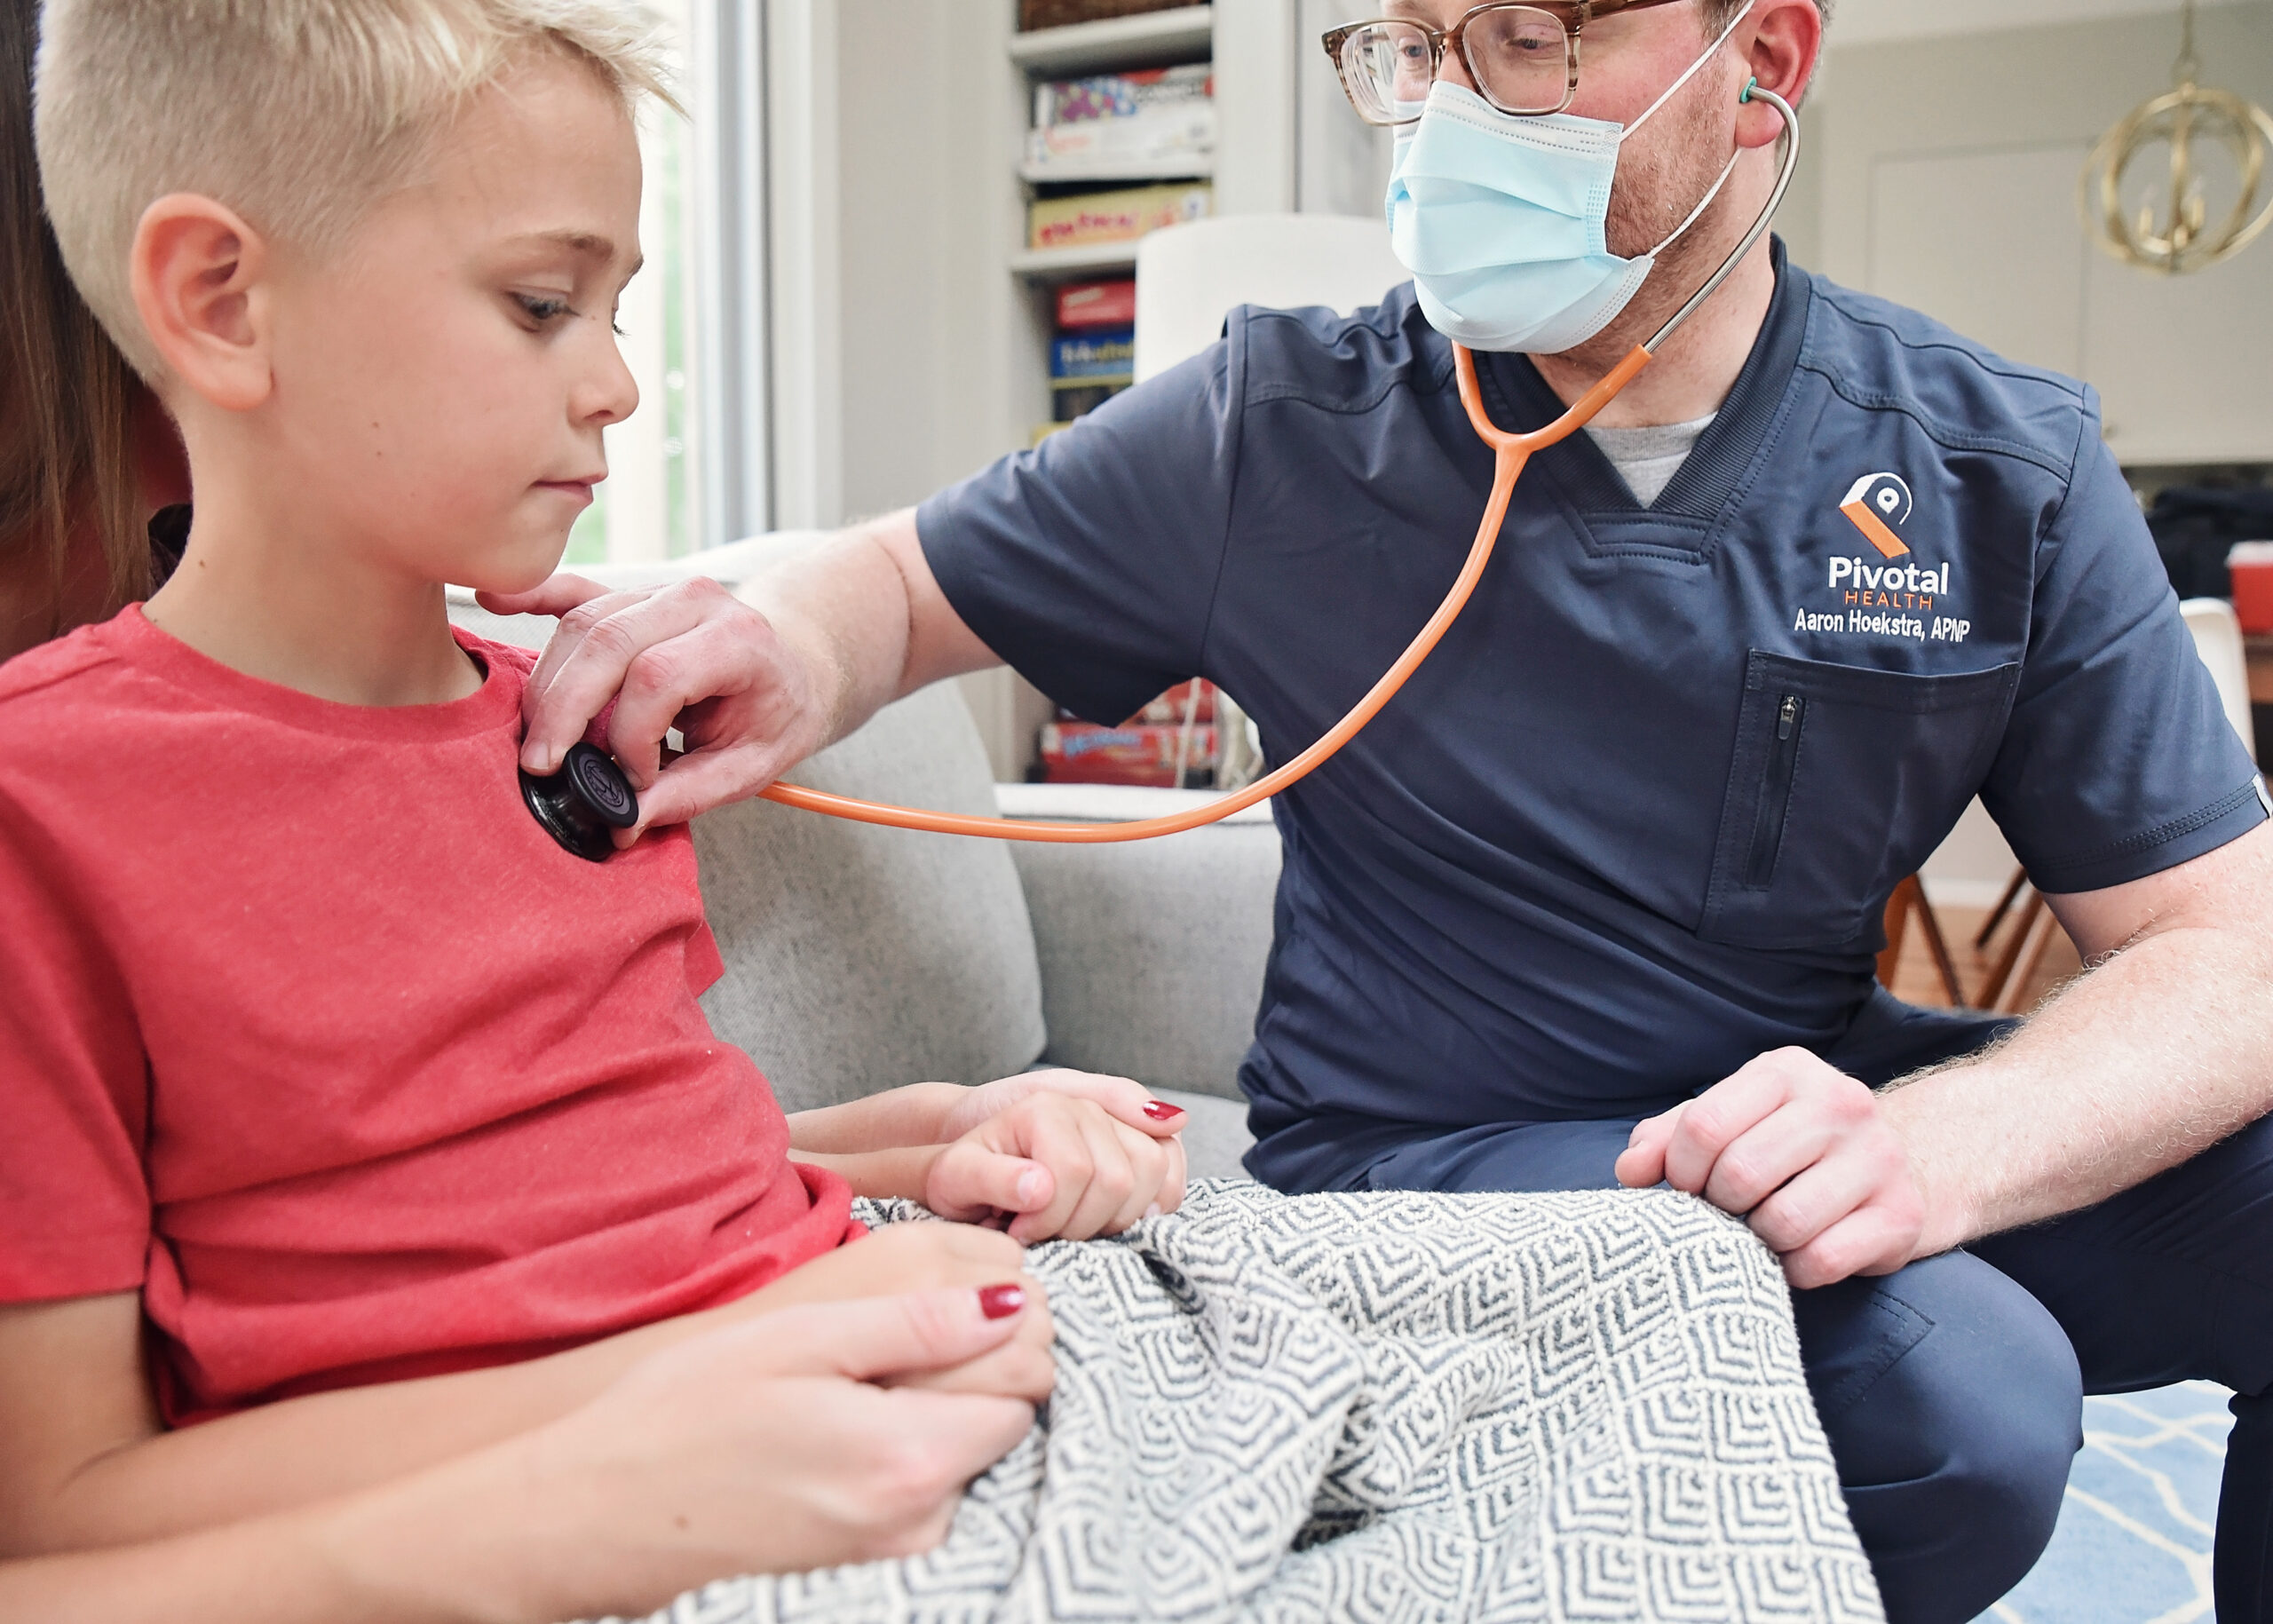
[{"label": "orange stethoscope tubing with grey metal ear tube, hanging from man's neck", "polygon": [[1773,105],[1784,116],[1784,164],[1782,175],[1775,182],[1775,193],[1768,198],[1768,207],[1746,232],[1737,250],[1721,262],[1721,268],[1712,280],[1700,287],[1687,305],[1682,305],[1673,318],[1657,330],[1648,343],[1634,346],[1623,362],[1618,362],[1593,389],[1589,389],[1577,405],[1564,412],[1559,419],[1530,434],[1514,434],[1498,428],[1491,414],[1484,409],[1484,393],[1475,382],[1475,355],[1466,346],[1452,346],[1452,362],[1459,373],[1459,403],[1468,409],[1468,425],[1475,428],[1477,437],[1491,446],[1491,500],[1484,503],[1484,521],[1475,528],[1475,544],[1468,548],[1468,562],[1462,564],[1459,578],[1446,594],[1443,603],[1427,619],[1427,625],[1407,644],[1405,653],[1398,655],[1396,664],[1382,673],[1362,701],[1350,710],[1348,716],[1337,721],[1325,735],[1318,737],[1307,751],[1296,755],[1291,762],[1257,778],[1246,789],[1227,796],[1218,796],[1205,805],[1196,805],[1189,812],[1173,812],[1168,817],[1132,819],[1125,823],[1032,823],[1021,819],[1000,817],[973,817],[968,812],[925,812],[921,807],[893,807],[880,805],[875,801],[855,801],[852,796],[832,796],[821,789],[805,789],[802,785],[775,782],[759,794],[766,801],[777,801],[784,807],[800,807],[805,812],[823,812],[827,817],[850,819],[855,823],[884,823],[886,828],[914,828],[932,835],[973,835],[977,839],[1027,839],[1046,842],[1059,846],[1109,846],[1125,839],[1159,839],[1162,835],[1182,835],[1191,828],[1202,828],[1207,823],[1218,823],[1232,812],[1255,805],[1275,796],[1280,789],[1307,778],[1318,767],[1323,767],[1343,744],[1357,737],[1357,732],[1373,721],[1382,705],[1396,698],[1405,680],[1421,669],[1421,662],[1430,657],[1437,641],[1450,630],[1459,612],[1468,607],[1468,596],[1475,585],[1484,578],[1484,566],[1491,564],[1491,548],[1500,539],[1500,523],[1507,519],[1507,503],[1516,494],[1516,480],[1523,475],[1525,464],[1532,453],[1557,446],[1577,430],[1587,428],[1593,416],[1607,407],[1618,393],[1650,364],[1650,357],[1664,346],[1673,332],[1698,312],[1698,307],[1712,298],[1730,273],[1743,262],[1759,237],[1768,230],[1768,221],[1775,218],[1777,205],[1784,200],[1784,191],[1791,189],[1791,173],[1800,159],[1800,118],[1791,111],[1791,105],[1764,91],[1757,84],[1746,86],[1746,100],[1762,100]]}]

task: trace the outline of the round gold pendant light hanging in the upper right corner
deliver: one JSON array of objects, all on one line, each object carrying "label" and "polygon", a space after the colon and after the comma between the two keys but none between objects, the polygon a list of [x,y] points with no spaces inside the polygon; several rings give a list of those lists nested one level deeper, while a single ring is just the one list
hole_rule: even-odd
[{"label": "round gold pendant light hanging in the upper right corner", "polygon": [[[2273,223],[2273,116],[2230,91],[2196,84],[2193,0],[2180,7],[2182,43],[2171,68],[2173,89],[2141,102],[2091,148],[2080,202],[2084,225],[2112,257],[2143,271],[2180,275],[2232,259]],[[2225,148],[2234,161],[2234,205],[2212,225],[2196,148]],[[2168,198],[2150,187],[2137,214],[2123,207],[2123,177],[2134,161],[2166,148]],[[2268,193],[2259,205],[2259,193]],[[2157,218],[2159,216],[2159,218]]]}]

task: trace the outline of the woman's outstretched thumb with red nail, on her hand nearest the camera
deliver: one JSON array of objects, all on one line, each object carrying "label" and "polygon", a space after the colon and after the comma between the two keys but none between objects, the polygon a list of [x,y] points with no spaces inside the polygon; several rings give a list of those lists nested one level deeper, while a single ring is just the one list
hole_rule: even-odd
[{"label": "woman's outstretched thumb with red nail, on her hand nearest the camera", "polygon": [[946,1369],[1002,1347],[1018,1333],[1018,1315],[1034,1296],[1032,1281],[1011,1278],[977,1290],[807,1303],[709,1335],[741,1340],[768,1376],[871,1381]]}]

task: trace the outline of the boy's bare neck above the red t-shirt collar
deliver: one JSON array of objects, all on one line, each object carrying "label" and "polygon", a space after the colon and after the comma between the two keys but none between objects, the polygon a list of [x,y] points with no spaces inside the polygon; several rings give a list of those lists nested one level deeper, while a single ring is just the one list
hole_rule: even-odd
[{"label": "boy's bare neck above the red t-shirt collar", "polygon": [[[198,480],[189,550],[145,614],[232,671],[341,705],[443,705],[482,687],[441,582],[295,530],[232,480]],[[218,487],[218,489],[216,489]]]}]

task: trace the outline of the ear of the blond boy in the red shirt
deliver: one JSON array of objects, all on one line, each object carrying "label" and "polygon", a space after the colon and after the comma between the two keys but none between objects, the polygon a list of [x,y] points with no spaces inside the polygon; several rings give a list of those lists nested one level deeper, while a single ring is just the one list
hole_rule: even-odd
[{"label": "ear of the blond boy in the red shirt", "polygon": [[182,387],[223,412],[261,405],[268,368],[268,243],[236,212],[177,191],[134,227],[134,307]]}]

